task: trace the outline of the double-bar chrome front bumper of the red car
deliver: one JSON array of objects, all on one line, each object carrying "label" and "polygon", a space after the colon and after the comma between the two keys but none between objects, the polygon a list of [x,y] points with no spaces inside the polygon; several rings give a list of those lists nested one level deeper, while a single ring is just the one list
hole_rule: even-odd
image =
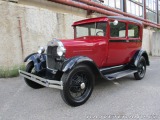
[{"label": "double-bar chrome front bumper of the red car", "polygon": [[36,83],[43,85],[45,87],[57,88],[57,89],[63,90],[62,81],[48,80],[48,79],[38,77],[36,75],[33,75],[31,73],[28,73],[28,72],[25,72],[22,70],[19,70],[19,74],[21,76],[23,76],[24,78],[27,78],[28,80],[36,82]]}]

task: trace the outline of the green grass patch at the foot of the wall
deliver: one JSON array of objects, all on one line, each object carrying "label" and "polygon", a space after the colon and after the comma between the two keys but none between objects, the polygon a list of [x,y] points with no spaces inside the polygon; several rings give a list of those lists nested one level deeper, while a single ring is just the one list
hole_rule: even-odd
[{"label": "green grass patch at the foot of the wall", "polygon": [[0,67],[0,78],[11,78],[11,77],[17,77],[19,75],[18,70],[24,70],[25,66],[24,65],[15,65],[10,68],[6,67]]}]

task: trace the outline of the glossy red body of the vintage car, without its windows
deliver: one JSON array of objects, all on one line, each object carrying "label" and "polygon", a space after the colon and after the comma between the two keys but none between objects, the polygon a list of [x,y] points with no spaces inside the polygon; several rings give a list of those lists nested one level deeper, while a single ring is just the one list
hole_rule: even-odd
[{"label": "glossy red body of the vintage car, without its windows", "polygon": [[[119,22],[126,24],[125,37],[110,37],[110,22],[117,18],[92,18],[75,22],[74,39],[61,40],[66,48],[66,58],[73,56],[87,56],[91,58],[99,68],[127,64],[132,59],[137,50],[141,49],[143,26],[141,23],[118,19]],[[89,24],[104,21],[107,24],[106,36],[83,36],[76,37],[75,27],[81,24]],[[128,24],[134,24],[139,27],[139,37],[128,37]]]}]

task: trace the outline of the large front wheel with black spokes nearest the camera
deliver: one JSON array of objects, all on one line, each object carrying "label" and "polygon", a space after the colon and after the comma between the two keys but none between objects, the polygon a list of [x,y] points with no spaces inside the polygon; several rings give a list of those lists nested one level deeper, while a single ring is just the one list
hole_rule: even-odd
[{"label": "large front wheel with black spokes nearest the camera", "polygon": [[63,100],[71,106],[84,104],[92,94],[94,78],[91,69],[86,65],[78,65],[69,73],[64,73],[61,78]]}]

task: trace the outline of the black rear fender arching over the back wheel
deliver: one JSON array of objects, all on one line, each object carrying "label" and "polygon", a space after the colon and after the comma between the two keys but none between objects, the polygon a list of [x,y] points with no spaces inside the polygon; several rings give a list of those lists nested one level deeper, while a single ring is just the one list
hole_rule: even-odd
[{"label": "black rear fender arching over the back wheel", "polygon": [[149,62],[149,57],[148,57],[148,54],[145,50],[138,50],[135,55],[133,56],[132,60],[131,60],[131,64],[136,66],[138,65],[138,61],[139,59],[141,58],[141,56],[143,56],[146,60],[146,65],[150,65],[150,62]]}]

